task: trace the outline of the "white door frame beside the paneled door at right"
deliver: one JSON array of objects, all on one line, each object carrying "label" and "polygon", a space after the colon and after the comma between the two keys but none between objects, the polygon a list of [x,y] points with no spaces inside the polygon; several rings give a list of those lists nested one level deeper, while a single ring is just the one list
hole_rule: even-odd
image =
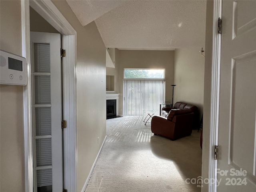
[{"label": "white door frame beside the paneled door at right", "polygon": [[210,98],[210,135],[208,179],[214,184],[208,184],[209,192],[217,192],[216,180],[218,160],[214,160],[214,147],[218,146],[219,129],[219,103],[220,103],[220,59],[221,59],[221,34],[218,34],[218,18],[222,18],[222,0],[214,0],[213,26],[212,26],[212,73],[211,73],[211,98]]}]

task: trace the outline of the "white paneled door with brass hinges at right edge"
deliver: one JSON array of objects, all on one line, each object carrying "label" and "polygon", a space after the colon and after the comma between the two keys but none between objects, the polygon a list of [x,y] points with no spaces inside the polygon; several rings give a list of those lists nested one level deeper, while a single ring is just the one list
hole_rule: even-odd
[{"label": "white paneled door with brass hinges at right edge", "polygon": [[256,191],[256,1],[222,1],[219,192]]}]

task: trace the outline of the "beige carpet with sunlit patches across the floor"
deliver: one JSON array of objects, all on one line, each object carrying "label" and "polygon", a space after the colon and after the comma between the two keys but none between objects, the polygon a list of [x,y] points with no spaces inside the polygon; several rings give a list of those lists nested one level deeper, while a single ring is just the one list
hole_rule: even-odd
[{"label": "beige carpet with sunlit patches across the floor", "polygon": [[107,139],[86,192],[199,192],[200,132],[171,141],[154,136],[143,116],[107,120]]}]

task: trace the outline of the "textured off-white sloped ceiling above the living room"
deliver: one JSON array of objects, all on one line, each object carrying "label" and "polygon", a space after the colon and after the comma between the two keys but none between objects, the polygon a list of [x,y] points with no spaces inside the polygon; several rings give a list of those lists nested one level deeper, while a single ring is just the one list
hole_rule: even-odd
[{"label": "textured off-white sloped ceiling above the living room", "polygon": [[204,47],[205,0],[68,0],[85,26],[92,20],[106,47],[173,50]]}]

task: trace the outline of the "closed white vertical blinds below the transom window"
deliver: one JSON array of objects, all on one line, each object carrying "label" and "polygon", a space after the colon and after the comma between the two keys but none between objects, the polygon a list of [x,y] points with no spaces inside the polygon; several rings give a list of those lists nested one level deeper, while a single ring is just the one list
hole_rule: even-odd
[{"label": "closed white vertical blinds below the transom window", "polygon": [[144,115],[144,111],[159,112],[165,100],[164,80],[123,80],[124,115]]}]

